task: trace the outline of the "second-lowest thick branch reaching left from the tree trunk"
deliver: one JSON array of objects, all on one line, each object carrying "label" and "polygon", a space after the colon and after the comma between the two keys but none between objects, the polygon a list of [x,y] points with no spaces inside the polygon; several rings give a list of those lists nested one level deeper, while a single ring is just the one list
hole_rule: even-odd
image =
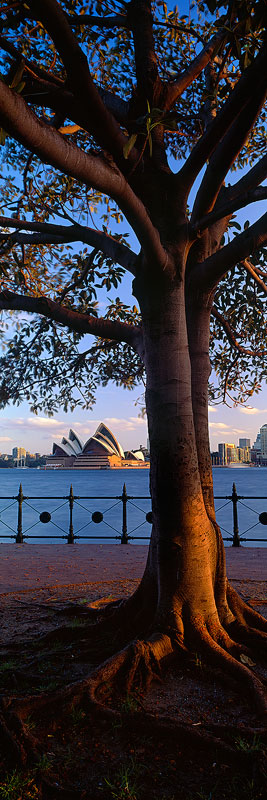
[{"label": "second-lowest thick branch reaching left from the tree trunk", "polygon": [[38,231],[36,234],[0,233],[1,241],[10,241],[13,244],[65,244],[68,242],[83,242],[101,250],[105,256],[112,258],[117,264],[135,275],[135,265],[137,256],[121,244],[112,236],[97,231],[94,228],[87,228],[82,225],[53,225],[46,222],[28,222],[23,219],[13,217],[1,217],[0,227],[12,227],[20,230]]}]

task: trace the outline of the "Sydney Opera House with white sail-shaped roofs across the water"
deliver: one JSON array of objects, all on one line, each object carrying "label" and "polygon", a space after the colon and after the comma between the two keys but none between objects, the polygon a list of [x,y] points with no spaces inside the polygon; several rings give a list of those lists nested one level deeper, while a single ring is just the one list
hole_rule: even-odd
[{"label": "Sydney Opera House with white sail-shaped roofs across the water", "polygon": [[84,444],[72,429],[68,439],[63,436],[60,444],[54,442],[52,456],[46,459],[50,469],[125,469],[149,467],[143,451],[124,452],[113,433],[100,423],[93,436]]}]

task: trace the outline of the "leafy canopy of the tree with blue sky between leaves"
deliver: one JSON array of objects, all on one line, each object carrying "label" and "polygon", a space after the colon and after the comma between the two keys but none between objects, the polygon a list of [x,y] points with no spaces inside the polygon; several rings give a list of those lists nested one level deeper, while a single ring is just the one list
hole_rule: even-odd
[{"label": "leafy canopy of the tree with blue sky between leaves", "polygon": [[[137,194],[142,170],[148,180],[153,178],[162,137],[166,164],[173,167],[177,162],[180,167],[184,163],[224,108],[244,70],[254,63],[266,35],[264,0],[256,4],[252,0],[234,2],[230,11],[225,2],[209,0],[198,2],[189,13],[180,13],[172,3],[154,0],[153,33],[162,82],[174,85],[212,37],[218,33],[224,37],[216,45],[210,64],[188,81],[166,111],[162,103],[158,106],[148,97],[149,83],[143,94],[140,87],[137,90],[140,65],[131,30],[134,4],[93,0],[91,21],[85,24],[77,22],[88,16],[85,0],[62,0],[60,5],[80,52],[87,58],[100,97],[114,110],[125,138],[124,172]],[[109,24],[112,15],[120,18],[120,24]],[[106,20],[107,27],[97,21],[99,18],[102,23]],[[0,69],[5,86],[25,100],[47,131],[60,131],[62,139],[79,152],[103,157],[109,164],[112,157],[100,141],[101,134],[86,124],[81,108],[77,112],[72,106],[64,106],[74,91],[73,87],[69,89],[64,100],[70,80],[65,83],[67,56],[63,63],[63,50],[60,52],[49,25],[36,16],[35,2],[4,2],[0,27]],[[264,154],[265,115],[263,103],[229,170],[248,169]],[[69,174],[68,169],[65,172],[53,166],[53,158],[49,163],[34,146],[25,146],[20,135],[12,135],[6,128],[3,124],[0,212],[7,221],[1,220],[0,291],[64,303],[65,308],[95,319],[95,335],[92,340],[55,319],[40,320],[37,311],[32,317],[11,310],[3,319],[1,331],[0,405],[9,401],[19,404],[26,398],[34,412],[42,409],[52,414],[61,405],[65,411],[77,405],[90,408],[100,383],[114,381],[132,389],[143,380],[143,364],[131,342],[97,333],[102,309],[105,320],[127,322],[132,330],[140,325],[138,308],[126,300],[129,287],[124,260],[122,264],[116,258],[116,245],[124,247],[123,259],[130,253],[129,215],[112,192],[109,195],[105,188],[92,187],[90,182]],[[146,203],[146,196],[143,200]],[[193,201],[189,219],[192,206]],[[150,208],[152,218],[153,213],[154,208]],[[23,229],[22,220],[27,220],[29,228]],[[158,222],[156,213],[153,221]],[[238,236],[240,230],[235,215],[229,216],[222,245]],[[93,234],[103,235],[109,247],[112,243],[114,255],[105,252],[105,247],[104,251],[101,246],[95,247]],[[212,317],[211,325],[215,380],[210,388],[216,402],[249,400],[266,375],[264,290],[257,282],[261,272],[265,279],[265,256],[264,246],[255,248],[251,253],[255,275],[246,271],[241,261],[217,286],[217,316]]]}]

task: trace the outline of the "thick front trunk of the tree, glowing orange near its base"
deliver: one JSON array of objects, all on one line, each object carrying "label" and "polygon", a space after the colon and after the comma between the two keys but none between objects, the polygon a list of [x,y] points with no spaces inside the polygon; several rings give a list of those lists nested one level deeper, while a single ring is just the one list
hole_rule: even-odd
[{"label": "thick front trunk of the tree, glowing orange near its base", "polygon": [[[179,627],[189,598],[192,614],[217,613],[217,537],[202,490],[184,286],[162,287],[151,301],[143,302],[141,293],[138,299],[144,330],[157,620],[161,627],[166,620],[168,627]],[[201,419],[198,436],[200,428]],[[208,475],[208,460],[206,465]]]}]

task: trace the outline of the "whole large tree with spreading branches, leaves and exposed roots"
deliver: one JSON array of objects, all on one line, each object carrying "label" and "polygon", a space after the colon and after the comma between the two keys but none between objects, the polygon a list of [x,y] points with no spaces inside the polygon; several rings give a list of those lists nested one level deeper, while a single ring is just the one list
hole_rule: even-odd
[{"label": "whole large tree with spreading branches, leaves and exposed roots", "polygon": [[[267,216],[241,231],[233,215],[267,196],[266,3],[199,3],[195,21],[150,0],[87,11],[82,0],[2,8],[0,124],[19,177],[3,178],[0,307],[33,315],[1,360],[2,403],[24,393],[34,409],[48,397],[51,411],[63,385],[67,406],[84,382],[86,404],[98,380],[132,386],[145,373],[149,555],[135,594],[108,608],[117,649],[91,677],[91,696],[123,667],[129,690],[194,647],[266,711],[241,656],[266,647],[267,623],[226,578],[207,421],[210,327],[225,397],[242,395],[242,369],[247,396],[264,374]],[[97,204],[102,230],[88,224]],[[137,255],[114,233],[123,218]],[[117,298],[98,316],[96,288],[116,287],[125,271],[140,311]],[[88,333],[97,338],[82,352]]]}]

